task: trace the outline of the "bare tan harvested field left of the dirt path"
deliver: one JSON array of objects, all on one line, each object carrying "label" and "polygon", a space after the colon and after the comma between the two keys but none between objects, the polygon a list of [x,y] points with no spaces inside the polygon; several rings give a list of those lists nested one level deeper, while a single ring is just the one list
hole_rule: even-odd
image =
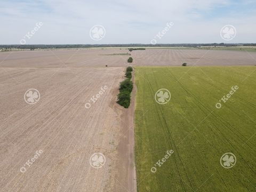
[{"label": "bare tan harvested field left of the dirt path", "polygon": [[[123,124],[123,109],[115,103],[125,69],[67,68],[61,62],[62,68],[21,65],[0,68],[1,191],[121,191],[121,185],[126,187],[125,172],[117,176],[123,169],[118,160],[133,159],[132,151],[123,153],[127,151],[123,137],[129,132],[121,129],[131,124]],[[31,105],[23,98],[30,88],[41,96]],[[118,149],[121,138],[122,151]],[[90,165],[94,153],[105,155],[103,168]]]}]

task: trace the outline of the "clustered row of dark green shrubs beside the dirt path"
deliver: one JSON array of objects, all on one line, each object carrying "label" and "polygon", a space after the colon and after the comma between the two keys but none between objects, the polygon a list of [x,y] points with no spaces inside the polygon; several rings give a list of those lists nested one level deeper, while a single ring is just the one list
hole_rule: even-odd
[{"label": "clustered row of dark green shrubs beside the dirt path", "polygon": [[117,103],[124,108],[128,108],[131,103],[131,93],[133,89],[133,84],[131,81],[132,78],[132,67],[129,66],[126,69],[125,79],[124,81],[121,82],[120,88],[119,88],[119,94],[117,95]]}]

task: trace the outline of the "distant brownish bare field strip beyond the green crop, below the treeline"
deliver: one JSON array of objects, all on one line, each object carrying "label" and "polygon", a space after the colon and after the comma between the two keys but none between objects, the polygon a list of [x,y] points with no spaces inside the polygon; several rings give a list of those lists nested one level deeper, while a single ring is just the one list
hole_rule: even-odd
[{"label": "distant brownish bare field strip beyond the green crop, below the treeline", "polygon": [[[126,54],[128,53],[128,54]],[[129,55],[131,54],[131,55]],[[1,67],[59,68],[191,65],[256,65],[256,52],[234,52],[209,49],[146,48],[129,52],[126,48],[62,49],[48,51],[17,51],[0,54]],[[65,62],[64,62],[65,61]]]}]

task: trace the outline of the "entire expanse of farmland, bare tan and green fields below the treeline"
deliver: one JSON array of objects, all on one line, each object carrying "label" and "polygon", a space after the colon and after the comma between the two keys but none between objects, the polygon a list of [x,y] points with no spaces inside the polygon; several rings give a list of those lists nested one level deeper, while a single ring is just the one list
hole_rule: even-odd
[{"label": "entire expanse of farmland, bare tan and green fields below the treeline", "polygon": [[[123,47],[0,53],[1,191],[135,192],[136,182],[140,192],[253,191],[255,54]],[[116,101],[129,65],[136,85],[125,109]],[[30,105],[31,88],[40,98]],[[154,100],[160,88],[171,92],[165,105]],[[237,157],[228,173],[220,166],[226,152]],[[101,169],[90,164],[94,153],[106,157]]]}]

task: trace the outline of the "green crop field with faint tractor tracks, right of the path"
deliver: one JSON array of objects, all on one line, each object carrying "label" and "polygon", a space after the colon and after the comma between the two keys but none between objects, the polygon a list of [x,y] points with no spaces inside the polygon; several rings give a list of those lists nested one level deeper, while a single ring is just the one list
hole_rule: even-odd
[{"label": "green crop field with faint tractor tracks, right of the path", "polygon": [[255,70],[135,68],[139,192],[256,191]]}]

